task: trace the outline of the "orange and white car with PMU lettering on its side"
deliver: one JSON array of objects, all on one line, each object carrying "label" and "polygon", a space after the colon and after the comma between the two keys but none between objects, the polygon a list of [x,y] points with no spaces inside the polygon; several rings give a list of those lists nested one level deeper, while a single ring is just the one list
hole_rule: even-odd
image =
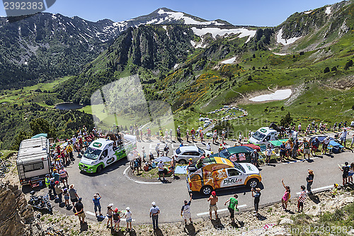
[{"label": "orange and white car with PMU lettering on its side", "polygon": [[188,191],[209,195],[213,189],[235,186],[255,188],[262,177],[250,163],[236,163],[222,157],[207,157],[188,166]]}]

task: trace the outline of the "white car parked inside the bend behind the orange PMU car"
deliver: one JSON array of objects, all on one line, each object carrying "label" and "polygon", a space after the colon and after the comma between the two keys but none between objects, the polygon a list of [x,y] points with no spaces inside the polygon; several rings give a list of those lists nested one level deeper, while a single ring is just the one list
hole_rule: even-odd
[{"label": "white car parked inside the bend behind the orange PMU car", "polygon": [[183,146],[178,147],[173,151],[173,155],[175,156],[176,162],[179,164],[187,164],[188,159],[192,158],[192,162],[198,161],[198,159],[202,155],[211,154],[210,151],[202,150],[196,146]]}]

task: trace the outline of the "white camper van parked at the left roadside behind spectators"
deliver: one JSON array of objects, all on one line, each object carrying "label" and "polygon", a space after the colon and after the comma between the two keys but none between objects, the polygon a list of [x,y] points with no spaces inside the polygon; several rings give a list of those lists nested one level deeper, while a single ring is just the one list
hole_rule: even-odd
[{"label": "white camper van parked at the left roadside behind spectators", "polygon": [[18,150],[17,169],[20,184],[38,186],[50,174],[50,143],[46,137],[23,140]]}]

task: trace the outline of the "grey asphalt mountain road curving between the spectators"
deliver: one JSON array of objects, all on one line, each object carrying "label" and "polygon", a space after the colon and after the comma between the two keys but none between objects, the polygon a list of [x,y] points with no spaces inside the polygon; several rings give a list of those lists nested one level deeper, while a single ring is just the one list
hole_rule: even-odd
[{"label": "grey asphalt mountain road curving between the spectators", "polygon": [[[150,143],[138,142],[138,150],[145,146],[145,150],[154,150],[156,141]],[[233,142],[229,143],[230,145]],[[179,144],[174,144],[173,147],[178,147]],[[202,144],[196,144],[199,147],[205,147]],[[212,150],[217,150],[217,147],[212,146]],[[170,154],[172,149],[170,150]],[[290,186],[292,198],[297,197],[297,192],[300,191],[300,186],[306,186],[307,169],[314,170],[314,184],[312,189],[326,189],[332,186],[333,183],[341,184],[341,171],[338,169],[338,164],[344,162],[353,162],[353,153],[347,150],[341,154],[333,154],[333,156],[324,155],[316,157],[310,162],[290,162],[288,164],[278,163],[271,166],[261,166],[261,176],[263,178],[261,205],[280,201],[285,189],[281,184],[284,179],[286,185]],[[122,159],[115,164],[103,169],[101,174],[83,174],[78,168],[79,158],[76,157],[74,163],[67,167],[69,172],[69,184],[75,184],[75,189],[80,197],[83,198],[84,210],[89,218],[95,218],[93,213],[92,198],[94,193],[100,193],[102,196],[101,206],[102,213],[105,215],[106,206],[113,203],[113,208],[124,210],[127,206],[132,210],[132,217],[135,223],[149,223],[149,208],[152,201],[159,206],[161,214],[160,222],[176,222],[180,221],[181,206],[183,200],[188,199],[188,190],[186,181],[183,178],[173,180],[167,178],[171,183],[154,184],[139,183],[127,178],[124,172],[129,167],[127,159]],[[325,188],[324,188],[325,187]],[[253,207],[253,198],[251,191],[246,187],[234,189],[217,190],[219,203],[217,204],[220,215],[227,214],[224,202],[229,199],[234,193],[239,195],[240,210]],[[57,208],[57,203],[54,203]],[[193,193],[193,201],[191,204],[192,218],[200,218],[208,216],[207,197],[200,193]],[[70,213],[69,210],[61,208],[62,211]],[[124,223],[124,222],[123,222]]]}]

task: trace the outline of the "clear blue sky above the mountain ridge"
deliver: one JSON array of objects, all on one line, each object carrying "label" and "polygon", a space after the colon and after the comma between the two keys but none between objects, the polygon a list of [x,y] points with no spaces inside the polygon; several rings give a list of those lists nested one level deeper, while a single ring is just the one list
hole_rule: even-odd
[{"label": "clear blue sky above the mountain ridge", "polygon": [[[47,12],[61,13],[70,17],[79,16],[89,21],[103,18],[124,21],[147,15],[159,7],[167,7],[206,20],[220,18],[234,25],[278,26],[292,13],[316,9],[336,2],[338,0],[57,0]],[[3,7],[0,8],[0,16],[6,16]]]}]

